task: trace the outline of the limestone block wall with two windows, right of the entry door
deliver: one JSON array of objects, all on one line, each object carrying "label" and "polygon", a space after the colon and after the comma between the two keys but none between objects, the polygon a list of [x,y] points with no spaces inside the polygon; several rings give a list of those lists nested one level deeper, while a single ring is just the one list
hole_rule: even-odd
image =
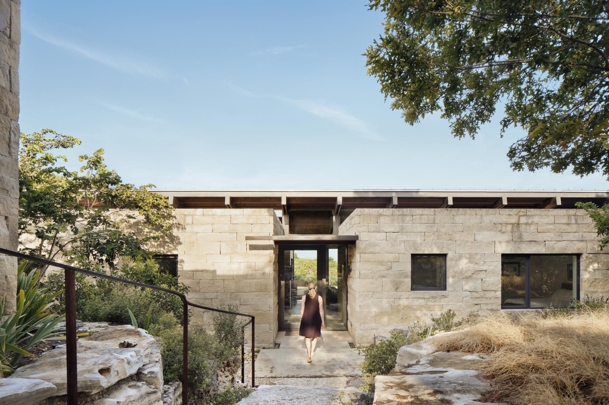
[{"label": "limestone block wall with two windows, right of the entry door", "polygon": [[[501,308],[501,254],[580,254],[580,294],[609,294],[609,251],[576,209],[357,209],[340,234],[350,248],[349,319],[357,343],[452,309]],[[447,254],[446,291],[410,291],[410,255]]]}]

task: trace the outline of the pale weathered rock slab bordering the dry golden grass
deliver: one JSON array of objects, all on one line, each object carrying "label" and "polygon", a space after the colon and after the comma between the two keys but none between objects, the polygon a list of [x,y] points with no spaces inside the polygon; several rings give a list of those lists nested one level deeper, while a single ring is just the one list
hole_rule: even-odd
[{"label": "pale weathered rock slab bordering the dry golden grass", "polygon": [[[487,356],[452,351],[397,365],[389,375],[375,378],[375,405],[437,404],[479,405],[475,401],[493,389],[479,375]],[[448,402],[446,402],[448,401]]]}]

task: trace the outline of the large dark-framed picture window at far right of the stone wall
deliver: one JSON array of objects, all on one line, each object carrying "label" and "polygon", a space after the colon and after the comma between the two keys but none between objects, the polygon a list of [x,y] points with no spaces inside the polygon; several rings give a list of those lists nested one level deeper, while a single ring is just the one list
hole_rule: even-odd
[{"label": "large dark-framed picture window at far right of the stone wall", "polygon": [[579,299],[578,255],[501,255],[501,306],[569,306]]}]

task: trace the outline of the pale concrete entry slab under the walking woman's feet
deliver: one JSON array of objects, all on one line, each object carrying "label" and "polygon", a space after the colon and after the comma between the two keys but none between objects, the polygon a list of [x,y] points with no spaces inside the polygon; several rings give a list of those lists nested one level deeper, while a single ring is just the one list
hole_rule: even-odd
[{"label": "pale concrete entry slab under the walking woman's feet", "polygon": [[364,356],[349,346],[347,331],[322,331],[313,362],[306,362],[305,341],[301,336],[277,335],[278,349],[261,349],[256,358],[257,377],[334,377],[359,376]]}]

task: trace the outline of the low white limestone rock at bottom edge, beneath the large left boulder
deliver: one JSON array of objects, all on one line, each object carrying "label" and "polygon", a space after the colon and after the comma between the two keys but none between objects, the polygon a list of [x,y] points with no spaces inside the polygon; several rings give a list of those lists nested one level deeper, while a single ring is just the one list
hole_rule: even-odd
[{"label": "low white limestone rock at bottom edge, beneath the large left boulder", "polygon": [[161,392],[141,381],[121,381],[91,405],[163,405]]}]

